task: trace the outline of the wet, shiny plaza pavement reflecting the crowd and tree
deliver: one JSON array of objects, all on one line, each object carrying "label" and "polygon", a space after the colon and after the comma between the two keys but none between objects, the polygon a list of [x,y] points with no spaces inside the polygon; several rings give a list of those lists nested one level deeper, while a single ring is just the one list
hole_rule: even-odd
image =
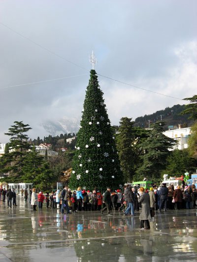
[{"label": "wet, shiny plaza pavement reflecting the crowd and tree", "polygon": [[139,229],[139,213],[99,211],[62,215],[0,202],[0,262],[197,261],[197,210],[156,214],[151,230]]}]

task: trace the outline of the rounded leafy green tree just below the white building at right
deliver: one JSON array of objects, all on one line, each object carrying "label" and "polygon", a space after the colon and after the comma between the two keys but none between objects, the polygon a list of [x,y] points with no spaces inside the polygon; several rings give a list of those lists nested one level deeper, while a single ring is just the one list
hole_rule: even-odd
[{"label": "rounded leafy green tree just below the white building at right", "polygon": [[186,172],[190,174],[196,170],[197,160],[190,157],[189,150],[175,149],[170,152],[166,159],[166,169],[162,174],[168,174],[169,176],[179,177]]}]

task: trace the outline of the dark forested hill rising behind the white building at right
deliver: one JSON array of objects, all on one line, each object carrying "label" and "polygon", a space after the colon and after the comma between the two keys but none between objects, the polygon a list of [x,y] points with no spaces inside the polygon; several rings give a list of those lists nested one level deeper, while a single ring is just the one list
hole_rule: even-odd
[{"label": "dark forested hill rising behind the white building at right", "polygon": [[185,105],[174,105],[173,107],[166,107],[164,110],[157,111],[151,115],[139,116],[135,119],[134,126],[140,126],[144,128],[149,127],[150,124],[155,123],[159,120],[165,121],[164,129],[168,130],[169,126],[189,127],[193,124],[193,120],[188,120],[189,115],[180,115],[185,109]]}]

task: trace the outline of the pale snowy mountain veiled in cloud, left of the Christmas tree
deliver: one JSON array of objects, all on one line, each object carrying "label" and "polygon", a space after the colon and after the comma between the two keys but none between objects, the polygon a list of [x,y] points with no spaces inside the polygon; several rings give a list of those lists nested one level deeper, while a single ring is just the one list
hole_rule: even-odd
[{"label": "pale snowy mountain veiled in cloud, left of the Christmas tree", "polygon": [[57,120],[46,120],[41,123],[46,132],[53,137],[60,134],[77,133],[79,130],[80,120],[77,118],[63,117]]}]

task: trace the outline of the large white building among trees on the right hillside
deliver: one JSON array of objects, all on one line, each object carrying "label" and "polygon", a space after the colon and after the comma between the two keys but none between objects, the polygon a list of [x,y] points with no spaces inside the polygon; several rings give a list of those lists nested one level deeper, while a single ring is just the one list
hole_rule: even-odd
[{"label": "large white building among trees on the right hillside", "polygon": [[174,146],[174,149],[178,148],[179,150],[188,148],[188,138],[191,135],[191,128],[178,128],[173,130],[167,130],[164,132],[166,137],[172,138],[178,142],[177,146]]}]

